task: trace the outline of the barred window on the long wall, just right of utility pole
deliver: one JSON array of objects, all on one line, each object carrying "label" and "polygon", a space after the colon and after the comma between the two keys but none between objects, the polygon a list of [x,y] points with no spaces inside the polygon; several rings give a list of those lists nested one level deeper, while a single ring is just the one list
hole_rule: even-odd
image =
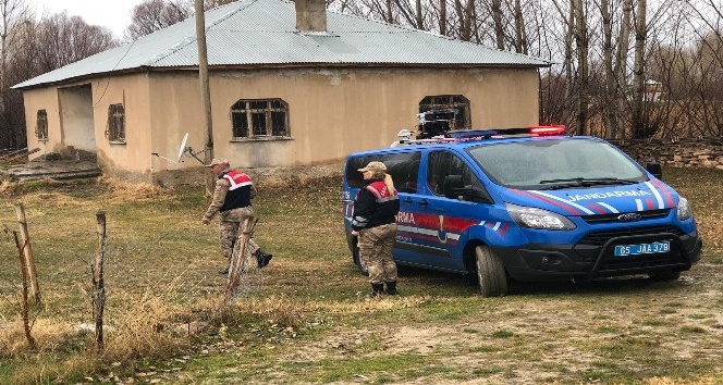
[{"label": "barred window on the long wall, just right of utility pole", "polygon": [[234,139],[289,137],[289,104],[281,99],[242,99],[231,107]]}]

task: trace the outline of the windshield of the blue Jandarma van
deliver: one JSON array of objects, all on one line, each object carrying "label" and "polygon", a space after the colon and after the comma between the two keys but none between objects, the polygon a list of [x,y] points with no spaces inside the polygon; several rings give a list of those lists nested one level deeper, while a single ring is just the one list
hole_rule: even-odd
[{"label": "windshield of the blue Jandarma van", "polygon": [[585,188],[648,179],[621,151],[591,139],[500,142],[470,148],[469,154],[494,183],[520,189]]}]

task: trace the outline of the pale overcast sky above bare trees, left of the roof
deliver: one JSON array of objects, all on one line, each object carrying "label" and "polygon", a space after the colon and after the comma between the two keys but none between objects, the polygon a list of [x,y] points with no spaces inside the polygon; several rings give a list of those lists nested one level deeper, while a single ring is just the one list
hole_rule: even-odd
[{"label": "pale overcast sky above bare trees, left of the roof", "polygon": [[131,25],[131,10],[143,0],[30,0],[28,4],[36,13],[60,13],[68,11],[69,16],[81,16],[90,25],[110,28],[117,38]]}]

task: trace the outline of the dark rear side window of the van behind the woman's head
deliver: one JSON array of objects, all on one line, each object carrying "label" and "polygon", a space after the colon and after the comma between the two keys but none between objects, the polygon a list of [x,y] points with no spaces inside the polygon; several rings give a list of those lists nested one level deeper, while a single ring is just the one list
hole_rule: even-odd
[{"label": "dark rear side window of the van behind the woman's head", "polygon": [[380,153],[348,160],[346,165],[346,184],[350,187],[364,186],[364,176],[357,170],[363,169],[371,161],[379,161],[387,165],[387,173],[392,175],[394,187],[400,192],[417,192],[417,178],[421,152]]}]

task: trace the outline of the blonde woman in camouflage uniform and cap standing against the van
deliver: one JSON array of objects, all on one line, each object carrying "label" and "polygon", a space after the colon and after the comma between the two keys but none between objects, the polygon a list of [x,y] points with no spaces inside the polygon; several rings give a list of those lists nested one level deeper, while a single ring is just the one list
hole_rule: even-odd
[{"label": "blonde woman in camouflage uniform and cap standing against the van", "polygon": [[365,186],[354,200],[352,235],[358,237],[359,258],[369,271],[371,296],[396,295],[396,262],[392,248],[396,239],[400,198],[392,177],[382,162],[369,162],[364,169]]}]

